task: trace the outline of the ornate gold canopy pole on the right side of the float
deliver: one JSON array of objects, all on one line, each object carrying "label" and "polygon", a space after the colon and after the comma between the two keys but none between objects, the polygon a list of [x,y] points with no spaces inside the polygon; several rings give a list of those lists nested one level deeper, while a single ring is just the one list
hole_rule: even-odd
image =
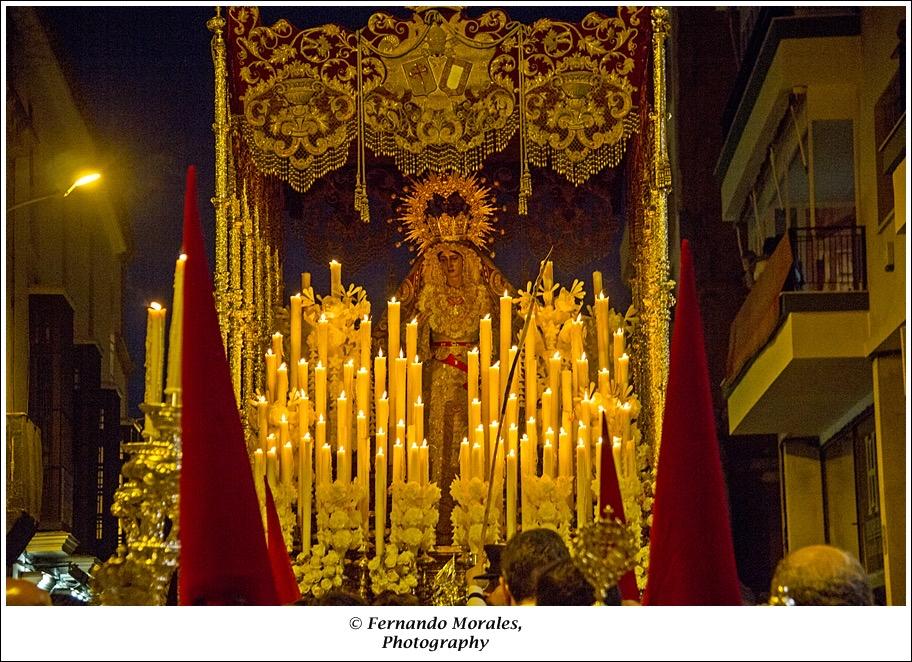
[{"label": "ornate gold canopy pole on the right side of the float", "polygon": [[674,283],[668,279],[668,194],[671,191],[671,165],[665,121],[665,40],[668,37],[668,10],[652,10],[653,112],[651,177],[646,209],[643,273],[642,321],[646,335],[647,392],[649,425],[653,438],[653,458],[658,463],[662,441],[662,416],[665,411],[665,386],[668,379],[668,326]]}]

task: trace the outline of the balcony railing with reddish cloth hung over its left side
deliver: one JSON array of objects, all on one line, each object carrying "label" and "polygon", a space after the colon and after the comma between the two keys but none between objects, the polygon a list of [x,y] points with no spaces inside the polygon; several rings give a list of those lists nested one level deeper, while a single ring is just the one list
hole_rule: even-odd
[{"label": "balcony railing with reddish cloth hung over its left side", "polygon": [[732,322],[725,389],[734,387],[779,327],[784,292],[864,291],[866,271],[863,227],[800,228],[783,235]]}]

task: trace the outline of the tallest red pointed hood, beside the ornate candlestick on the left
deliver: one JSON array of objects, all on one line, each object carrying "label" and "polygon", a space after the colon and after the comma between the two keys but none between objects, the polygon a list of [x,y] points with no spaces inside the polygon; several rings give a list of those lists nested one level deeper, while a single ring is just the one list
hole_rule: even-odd
[{"label": "tallest red pointed hood, beside the ornate candlestick on the left", "polygon": [[278,604],[200,226],[196,169],[184,199],[179,602]]}]

